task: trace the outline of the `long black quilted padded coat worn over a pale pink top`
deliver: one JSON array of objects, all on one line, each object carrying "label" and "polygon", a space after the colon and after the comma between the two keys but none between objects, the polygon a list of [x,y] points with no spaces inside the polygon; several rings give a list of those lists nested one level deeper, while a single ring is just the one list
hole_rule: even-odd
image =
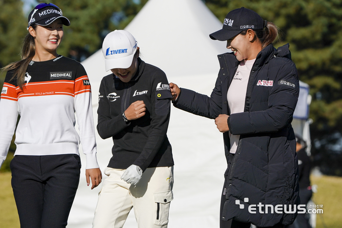
[{"label": "long black quilted padded coat worn over a pale pink top", "polygon": [[[227,92],[239,62],[233,53],[219,55],[218,60],[220,71],[211,97],[182,88],[175,107],[211,119],[230,115]],[[222,220],[233,218],[259,227],[294,221],[297,213],[271,213],[270,209],[260,213],[258,207],[256,213],[250,213],[248,207],[261,203],[286,205],[288,210],[289,205],[293,208],[299,204],[296,140],[291,126],[298,96],[298,73],[289,45],[278,50],[268,45],[257,55],[251,70],[244,112],[228,118],[230,132],[240,139],[225,173],[228,180]],[[228,132],[223,133],[223,139],[228,161]],[[244,202],[244,198],[249,201]],[[236,200],[245,205],[243,209]]]}]

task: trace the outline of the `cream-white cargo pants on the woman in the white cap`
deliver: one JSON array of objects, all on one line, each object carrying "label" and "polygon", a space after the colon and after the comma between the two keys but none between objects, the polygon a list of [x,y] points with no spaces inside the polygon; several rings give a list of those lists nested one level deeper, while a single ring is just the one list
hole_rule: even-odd
[{"label": "cream-white cargo pants on the woman in the white cap", "polygon": [[122,228],[134,209],[138,228],[167,228],[173,199],[173,166],[147,168],[137,185],[121,180],[126,169],[107,167],[93,228]]}]

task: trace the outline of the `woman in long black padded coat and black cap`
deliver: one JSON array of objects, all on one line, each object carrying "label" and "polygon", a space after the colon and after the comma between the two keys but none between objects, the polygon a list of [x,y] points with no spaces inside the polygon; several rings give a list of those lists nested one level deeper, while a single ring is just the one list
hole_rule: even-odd
[{"label": "woman in long black padded coat and black cap", "polygon": [[170,83],[173,105],[215,119],[228,163],[221,228],[281,228],[297,215],[298,160],[292,116],[299,95],[289,45],[275,49],[278,28],[254,11],[229,12],[210,35],[233,52],[218,56],[210,97]]}]

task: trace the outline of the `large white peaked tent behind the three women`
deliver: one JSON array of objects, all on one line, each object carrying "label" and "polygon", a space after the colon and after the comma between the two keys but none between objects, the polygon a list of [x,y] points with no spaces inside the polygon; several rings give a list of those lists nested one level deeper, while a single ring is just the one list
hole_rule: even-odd
[{"label": "large white peaked tent behind the three women", "polygon": [[[222,22],[201,0],[149,0],[125,30],[138,41],[141,58],[164,70],[169,82],[210,95],[219,69],[216,56],[227,52],[225,42],[209,38],[220,28]],[[102,51],[82,64],[92,85],[96,125],[99,85],[108,74]],[[227,165],[222,134],[214,120],[172,106],[168,137],[175,162],[169,228],[219,227],[219,201]],[[96,140],[98,161],[104,170],[113,143],[98,135]],[[101,186],[94,190],[86,187],[84,173],[83,168],[67,228],[91,228]],[[124,228],[134,227],[131,211]]]}]

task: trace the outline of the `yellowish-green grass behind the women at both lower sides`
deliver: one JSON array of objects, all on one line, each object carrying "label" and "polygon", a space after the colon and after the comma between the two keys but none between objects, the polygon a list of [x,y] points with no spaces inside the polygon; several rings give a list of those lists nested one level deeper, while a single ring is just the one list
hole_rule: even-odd
[{"label": "yellowish-green grass behind the women at both lower sides", "polygon": [[[323,205],[323,214],[317,214],[316,228],[341,228],[342,177],[311,176],[315,204]],[[0,173],[0,227],[20,228],[17,207],[11,187],[11,173]]]}]

